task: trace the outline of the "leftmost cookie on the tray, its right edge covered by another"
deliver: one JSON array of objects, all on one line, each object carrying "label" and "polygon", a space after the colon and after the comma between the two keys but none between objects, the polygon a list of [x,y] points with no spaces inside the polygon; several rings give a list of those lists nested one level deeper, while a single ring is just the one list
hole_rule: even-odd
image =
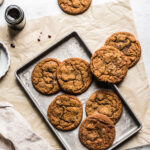
[{"label": "leftmost cookie on the tray, its right edge covered by another", "polygon": [[60,90],[57,82],[56,70],[60,61],[46,58],[39,62],[32,72],[32,83],[37,91],[50,95]]}]

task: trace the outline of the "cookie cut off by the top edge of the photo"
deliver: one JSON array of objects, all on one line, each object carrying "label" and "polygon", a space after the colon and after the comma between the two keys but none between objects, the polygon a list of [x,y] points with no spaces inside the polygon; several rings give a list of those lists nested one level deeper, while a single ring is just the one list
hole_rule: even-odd
[{"label": "cookie cut off by the top edge of the photo", "polygon": [[85,12],[92,0],[58,0],[60,8],[71,15],[77,15]]}]

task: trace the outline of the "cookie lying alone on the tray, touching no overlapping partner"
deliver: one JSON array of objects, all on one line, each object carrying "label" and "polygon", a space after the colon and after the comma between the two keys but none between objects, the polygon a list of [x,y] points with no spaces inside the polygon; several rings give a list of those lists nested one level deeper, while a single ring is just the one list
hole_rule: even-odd
[{"label": "cookie lying alone on the tray, touching no overlapping partner", "polygon": [[48,108],[48,119],[59,130],[75,129],[82,119],[82,103],[72,95],[57,96]]}]

